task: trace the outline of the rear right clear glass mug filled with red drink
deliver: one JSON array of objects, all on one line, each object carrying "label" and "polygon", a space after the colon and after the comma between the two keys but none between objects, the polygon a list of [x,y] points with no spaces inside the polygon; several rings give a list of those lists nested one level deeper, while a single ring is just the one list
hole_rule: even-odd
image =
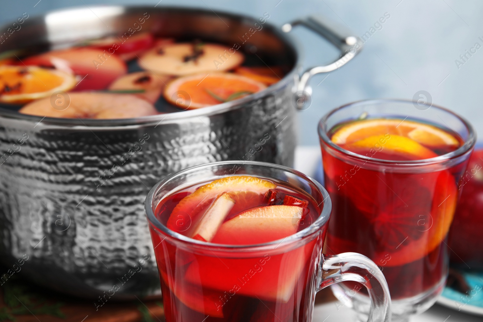
[{"label": "rear right clear glass mug filled with red drink", "polygon": [[[397,119],[395,124],[401,120],[398,126],[402,126],[384,127],[392,133],[367,155],[348,151],[347,142],[333,142],[331,137],[337,136],[341,124],[356,125],[372,118]],[[386,142],[402,135],[394,132],[402,132],[409,124],[404,122],[412,120],[447,129],[460,146],[422,160],[378,158],[388,148]],[[434,105],[381,99],[328,112],[318,132],[325,187],[333,206],[324,252],[359,252],[373,260],[389,285],[393,320],[408,321],[433,305],[444,288],[447,234],[461,191],[458,182],[475,144],[473,128],[455,113]],[[355,308],[359,319],[367,319],[369,297],[357,284],[338,284],[332,290]]]}]

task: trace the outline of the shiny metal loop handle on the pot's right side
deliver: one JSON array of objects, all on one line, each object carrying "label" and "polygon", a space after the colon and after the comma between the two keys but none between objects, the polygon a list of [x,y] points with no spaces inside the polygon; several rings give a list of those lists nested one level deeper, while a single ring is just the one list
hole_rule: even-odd
[{"label": "shiny metal loop handle on the pot's right side", "polygon": [[[287,23],[282,26],[282,30],[284,32],[289,32],[292,30],[292,27],[297,25],[302,25],[318,33],[341,51],[341,57],[333,63],[326,66],[309,68],[308,70],[304,71],[300,77],[300,81],[298,82],[297,91],[307,92],[308,83],[313,75],[327,73],[329,71],[339,69],[362,50],[363,42],[360,39],[350,35],[346,30],[342,30],[340,28],[336,29],[334,26],[330,26],[326,22],[323,22],[320,18],[314,16],[308,16],[295,20],[291,23]],[[297,103],[297,109],[303,110],[302,105],[303,104]]]}]

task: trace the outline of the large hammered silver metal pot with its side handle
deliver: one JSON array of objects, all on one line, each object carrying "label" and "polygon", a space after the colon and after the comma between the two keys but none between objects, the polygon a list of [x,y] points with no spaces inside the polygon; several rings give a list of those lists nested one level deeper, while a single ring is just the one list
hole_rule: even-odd
[{"label": "large hammered silver metal pot with its side handle", "polygon": [[[1,49],[57,49],[122,35],[145,13],[144,30],[157,36],[226,44],[241,42],[239,36],[260,24],[257,18],[182,8],[68,9],[29,17]],[[241,50],[288,72],[280,82],[236,101],[125,120],[41,118],[1,108],[2,264],[10,267],[28,256],[21,274],[87,298],[97,299],[114,285],[119,287],[114,299],[159,294],[143,213],[150,188],[172,172],[213,161],[292,166],[295,114],[310,92],[310,77],[341,67],[361,48],[354,37],[313,18],[283,30],[297,24],[326,37],[341,57],[299,77],[294,42],[265,22]]]}]

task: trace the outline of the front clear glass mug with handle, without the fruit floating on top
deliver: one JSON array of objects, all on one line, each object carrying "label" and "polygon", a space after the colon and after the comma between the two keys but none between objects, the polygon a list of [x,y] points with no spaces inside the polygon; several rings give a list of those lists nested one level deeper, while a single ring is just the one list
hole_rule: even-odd
[{"label": "front clear glass mug with handle, without the fruit floating on top", "polygon": [[[166,205],[170,197],[187,187],[226,177],[228,173],[284,185],[322,207],[313,214],[312,223],[305,229],[256,245],[209,243],[166,227],[169,211]],[[318,182],[300,172],[248,161],[187,168],[171,174],[151,189],[145,211],[167,322],[309,322],[315,293],[341,281],[359,282],[367,288],[371,302],[369,321],[390,321],[390,296],[380,269],[367,257],[354,252],[329,256],[322,253],[331,201]],[[187,215],[180,218],[179,224],[189,225],[189,220]]]}]

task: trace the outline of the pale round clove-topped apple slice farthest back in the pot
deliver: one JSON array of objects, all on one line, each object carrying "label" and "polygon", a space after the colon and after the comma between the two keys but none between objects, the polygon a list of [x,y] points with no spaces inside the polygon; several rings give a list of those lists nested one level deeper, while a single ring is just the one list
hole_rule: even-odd
[{"label": "pale round clove-topped apple slice farthest back in the pot", "polygon": [[183,42],[156,46],[139,59],[139,65],[155,73],[181,76],[231,70],[243,59],[243,54],[224,45]]}]

